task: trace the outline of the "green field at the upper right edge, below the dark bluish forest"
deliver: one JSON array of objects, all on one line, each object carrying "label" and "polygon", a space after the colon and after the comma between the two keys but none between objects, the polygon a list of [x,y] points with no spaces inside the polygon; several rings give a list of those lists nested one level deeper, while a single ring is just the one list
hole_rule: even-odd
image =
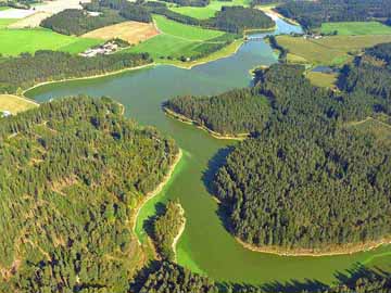
[{"label": "green field at the upper right edge, below the dark bluish forest", "polygon": [[341,36],[361,35],[391,35],[391,27],[378,22],[345,22],[345,23],[324,23],[320,33],[332,34],[338,31]]}]

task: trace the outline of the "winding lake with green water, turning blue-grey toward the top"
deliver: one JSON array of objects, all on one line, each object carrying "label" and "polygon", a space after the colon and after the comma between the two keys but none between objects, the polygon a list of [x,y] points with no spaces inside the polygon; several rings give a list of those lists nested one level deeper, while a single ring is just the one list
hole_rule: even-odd
[{"label": "winding lake with green water, turning blue-grey toward the top", "polygon": [[[275,34],[301,30],[279,18],[276,22]],[[192,69],[159,65],[103,78],[46,85],[26,95],[39,102],[78,93],[112,97],[125,105],[125,115],[142,125],[153,125],[176,140],[184,151],[182,160],[161,194],[140,212],[136,230],[142,240],[143,222],[155,213],[155,204],[179,199],[187,218],[177,245],[180,265],[218,281],[252,284],[305,280],[332,283],[338,273],[346,273],[358,263],[391,270],[391,245],[352,255],[287,257],[245,250],[224,228],[207,187],[224,163],[227,148],[237,142],[214,139],[193,126],[168,118],[161,105],[175,95],[214,94],[247,87],[251,84],[250,69],[275,62],[277,58],[267,43],[250,41],[229,58]]]}]

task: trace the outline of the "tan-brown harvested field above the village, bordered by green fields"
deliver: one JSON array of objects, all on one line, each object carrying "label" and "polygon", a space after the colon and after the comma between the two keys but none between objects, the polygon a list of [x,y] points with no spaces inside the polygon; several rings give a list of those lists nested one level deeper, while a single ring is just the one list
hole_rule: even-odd
[{"label": "tan-brown harvested field above the village, bordered by green fields", "polygon": [[159,35],[159,30],[156,29],[154,24],[125,22],[98,28],[83,35],[81,37],[103,40],[119,38],[128,41],[129,43],[136,44],[140,41],[148,40],[156,35]]}]

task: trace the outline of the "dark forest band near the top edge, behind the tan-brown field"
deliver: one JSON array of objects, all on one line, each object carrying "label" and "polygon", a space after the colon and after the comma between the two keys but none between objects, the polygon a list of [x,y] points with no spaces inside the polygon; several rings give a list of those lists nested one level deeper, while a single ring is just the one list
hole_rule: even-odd
[{"label": "dark forest band near the top edge, behind the tan-brown field", "polygon": [[[189,1],[189,0],[186,0]],[[197,2],[197,1],[195,1]],[[83,35],[110,24],[126,20],[152,22],[152,14],[164,15],[169,20],[204,28],[242,34],[245,29],[273,28],[274,21],[264,12],[242,7],[223,7],[209,20],[198,20],[169,10],[163,2],[136,2],[127,0],[94,0],[84,4],[85,10],[65,10],[45,20],[41,26],[65,35]],[[90,12],[100,12],[90,16]]]}]

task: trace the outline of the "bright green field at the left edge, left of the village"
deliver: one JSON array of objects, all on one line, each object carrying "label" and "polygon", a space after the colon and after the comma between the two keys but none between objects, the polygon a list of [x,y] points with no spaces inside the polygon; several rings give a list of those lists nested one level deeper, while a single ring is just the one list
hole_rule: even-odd
[{"label": "bright green field at the left edge, left of the village", "polygon": [[37,50],[60,50],[70,53],[79,53],[102,42],[102,40],[98,39],[64,36],[42,28],[2,28],[0,29],[0,53],[9,56],[15,56],[23,52],[34,53]]}]

